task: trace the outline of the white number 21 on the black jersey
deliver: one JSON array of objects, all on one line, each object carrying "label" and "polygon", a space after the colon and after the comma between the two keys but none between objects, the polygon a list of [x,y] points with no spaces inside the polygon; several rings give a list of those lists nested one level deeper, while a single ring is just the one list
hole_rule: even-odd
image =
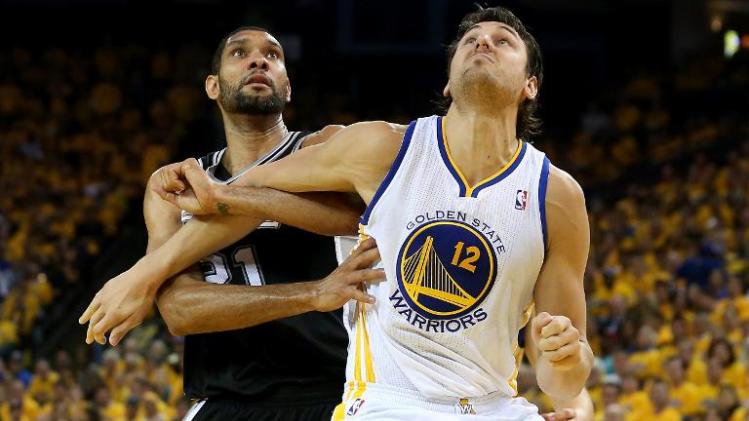
[{"label": "white number 21 on the black jersey", "polygon": [[232,279],[231,268],[239,268],[242,270],[245,284],[256,287],[265,284],[255,257],[255,248],[252,245],[237,247],[228,259],[224,254],[213,254],[203,263],[209,266],[203,271],[207,282],[228,284]]}]

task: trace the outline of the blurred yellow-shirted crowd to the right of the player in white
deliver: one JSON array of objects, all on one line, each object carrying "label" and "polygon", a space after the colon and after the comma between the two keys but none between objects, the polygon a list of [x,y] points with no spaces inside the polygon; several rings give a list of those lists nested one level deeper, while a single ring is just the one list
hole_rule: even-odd
[{"label": "blurred yellow-shirted crowd to the right of the player in white", "polygon": [[[605,190],[588,195],[596,420],[749,415],[748,82],[715,61],[641,76],[609,112],[592,104],[564,153],[550,146]],[[551,407],[529,370],[520,383]]]}]

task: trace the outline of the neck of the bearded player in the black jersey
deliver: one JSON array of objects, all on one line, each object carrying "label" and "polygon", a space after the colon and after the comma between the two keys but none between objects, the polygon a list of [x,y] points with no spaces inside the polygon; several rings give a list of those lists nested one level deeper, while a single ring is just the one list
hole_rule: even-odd
[{"label": "neck of the bearded player in the black jersey", "polygon": [[280,113],[222,114],[227,145],[223,164],[232,175],[265,155],[288,133]]}]

